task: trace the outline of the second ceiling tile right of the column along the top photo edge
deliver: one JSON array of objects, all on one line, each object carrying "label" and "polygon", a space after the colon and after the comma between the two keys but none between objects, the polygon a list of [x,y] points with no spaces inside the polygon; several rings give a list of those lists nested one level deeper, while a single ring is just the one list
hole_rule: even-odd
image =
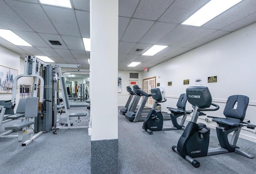
[{"label": "second ceiling tile right of the column along the top photo edge", "polygon": [[156,21],[174,0],[141,0],[133,17]]}]

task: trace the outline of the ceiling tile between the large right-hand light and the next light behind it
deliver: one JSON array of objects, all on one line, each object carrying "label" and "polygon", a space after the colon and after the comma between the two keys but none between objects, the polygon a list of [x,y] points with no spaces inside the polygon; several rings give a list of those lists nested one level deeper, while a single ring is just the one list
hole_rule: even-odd
[{"label": "ceiling tile between the large right-hand light and the next light behind it", "polygon": [[189,25],[178,25],[162,37],[156,44],[157,45],[172,45],[172,43],[180,40],[184,35],[188,35],[198,27],[193,27]]}]

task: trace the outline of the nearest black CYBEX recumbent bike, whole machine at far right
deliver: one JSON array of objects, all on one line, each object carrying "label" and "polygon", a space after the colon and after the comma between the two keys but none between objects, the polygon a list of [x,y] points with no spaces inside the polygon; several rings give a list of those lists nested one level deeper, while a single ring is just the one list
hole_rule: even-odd
[{"label": "nearest black CYBEX recumbent bike, whole machine at far right", "polygon": [[[242,151],[236,146],[238,136],[243,126],[254,129],[256,125],[250,122],[244,122],[246,108],[249,103],[249,98],[242,95],[230,96],[227,100],[224,115],[225,118],[213,117],[212,121],[218,123],[216,127],[220,148],[208,149],[210,129],[204,124],[197,124],[196,121],[200,112],[202,111],[216,111],[219,106],[212,103],[212,96],[210,91],[205,86],[188,87],[186,89],[188,102],[192,104],[194,113],[191,121],[186,126],[182,136],[178,141],[178,145],[173,146],[172,150],[177,152],[180,156],[188,160],[194,167],[198,168],[200,163],[193,159],[200,156],[207,156],[213,154],[222,154],[228,152],[236,152],[248,158],[253,158],[252,155]],[[237,103],[236,109],[234,108]],[[213,109],[210,106],[215,106]],[[208,116],[210,117],[210,116]],[[228,134],[233,133],[231,141],[228,141]]]}]

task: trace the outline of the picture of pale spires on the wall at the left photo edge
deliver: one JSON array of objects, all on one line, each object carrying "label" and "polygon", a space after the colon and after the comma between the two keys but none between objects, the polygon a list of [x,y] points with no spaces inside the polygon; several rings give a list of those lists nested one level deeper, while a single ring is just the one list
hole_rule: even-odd
[{"label": "picture of pale spires on the wall at the left photo edge", "polygon": [[0,93],[12,93],[13,81],[17,75],[18,70],[0,65]]}]

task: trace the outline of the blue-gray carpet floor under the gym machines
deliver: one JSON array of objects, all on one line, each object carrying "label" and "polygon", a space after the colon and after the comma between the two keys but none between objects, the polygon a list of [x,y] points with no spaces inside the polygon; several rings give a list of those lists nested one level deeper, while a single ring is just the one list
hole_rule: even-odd
[{"label": "blue-gray carpet floor under the gym machines", "polygon": [[[70,108],[69,111],[82,112],[84,108]],[[64,116],[63,113],[62,121],[65,121]],[[142,124],[129,122],[124,115],[118,114],[120,174],[249,174],[256,171],[256,158],[236,153],[196,158],[200,167],[194,168],[172,151],[182,130],[156,131],[149,135]],[[171,121],[164,121],[164,127],[168,126],[172,126]],[[0,174],[90,174],[87,129],[62,129],[57,133],[43,133],[25,147],[16,138],[0,139]],[[256,156],[256,143],[239,139],[237,145]],[[211,129],[209,147],[219,147],[214,129]]]}]

